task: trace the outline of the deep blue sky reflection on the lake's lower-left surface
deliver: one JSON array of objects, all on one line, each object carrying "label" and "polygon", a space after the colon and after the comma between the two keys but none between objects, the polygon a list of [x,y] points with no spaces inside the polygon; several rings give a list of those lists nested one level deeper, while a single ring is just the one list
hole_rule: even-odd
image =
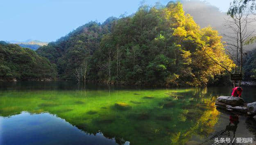
[{"label": "deep blue sky reflection on the lake's lower-left surface", "polygon": [[21,112],[8,118],[0,117],[0,120],[1,145],[114,145],[118,142],[115,138],[105,138],[101,132],[89,134],[79,130],[64,119],[49,113]]}]

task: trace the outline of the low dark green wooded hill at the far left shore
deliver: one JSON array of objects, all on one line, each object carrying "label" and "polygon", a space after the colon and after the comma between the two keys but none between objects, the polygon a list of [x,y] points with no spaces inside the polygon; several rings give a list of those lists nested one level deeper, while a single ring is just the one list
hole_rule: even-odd
[{"label": "low dark green wooded hill at the far left shore", "polygon": [[32,49],[0,42],[0,80],[52,80],[56,74],[56,66]]}]

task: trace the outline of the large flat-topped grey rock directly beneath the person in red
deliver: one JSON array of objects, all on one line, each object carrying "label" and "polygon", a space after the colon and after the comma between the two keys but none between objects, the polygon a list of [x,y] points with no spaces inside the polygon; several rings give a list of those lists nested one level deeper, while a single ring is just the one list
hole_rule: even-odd
[{"label": "large flat-topped grey rock directly beneath the person in red", "polygon": [[231,96],[220,96],[217,101],[226,103],[227,105],[239,106],[244,105],[245,101],[242,98],[231,97]]}]

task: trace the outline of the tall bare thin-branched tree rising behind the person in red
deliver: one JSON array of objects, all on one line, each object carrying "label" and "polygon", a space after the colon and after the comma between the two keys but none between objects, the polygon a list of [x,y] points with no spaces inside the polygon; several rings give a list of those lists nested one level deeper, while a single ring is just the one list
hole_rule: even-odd
[{"label": "tall bare thin-branched tree rising behind the person in red", "polygon": [[[236,74],[237,71],[239,74],[242,74],[242,60],[243,56],[246,54],[244,45],[245,42],[254,36],[254,30],[249,30],[248,26],[251,22],[254,22],[254,19],[250,16],[247,9],[241,9],[237,13],[230,15],[229,18],[225,19],[224,27],[230,30],[225,33],[224,36],[227,38],[226,45],[227,54],[236,62],[235,68],[233,69],[232,74]],[[237,67],[238,68],[237,69]],[[233,81],[233,87],[235,87],[236,82]],[[239,80],[239,86],[241,85],[241,80]]]}]

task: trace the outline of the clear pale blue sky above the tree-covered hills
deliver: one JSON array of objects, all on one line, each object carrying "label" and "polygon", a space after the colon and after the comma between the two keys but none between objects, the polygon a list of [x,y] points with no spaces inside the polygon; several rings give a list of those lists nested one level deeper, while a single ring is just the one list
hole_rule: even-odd
[{"label": "clear pale blue sky above the tree-covered hills", "polygon": [[[145,0],[167,4],[170,0]],[[227,11],[231,0],[205,0]],[[0,40],[55,41],[91,20],[135,13],[141,0],[0,0]]]}]

